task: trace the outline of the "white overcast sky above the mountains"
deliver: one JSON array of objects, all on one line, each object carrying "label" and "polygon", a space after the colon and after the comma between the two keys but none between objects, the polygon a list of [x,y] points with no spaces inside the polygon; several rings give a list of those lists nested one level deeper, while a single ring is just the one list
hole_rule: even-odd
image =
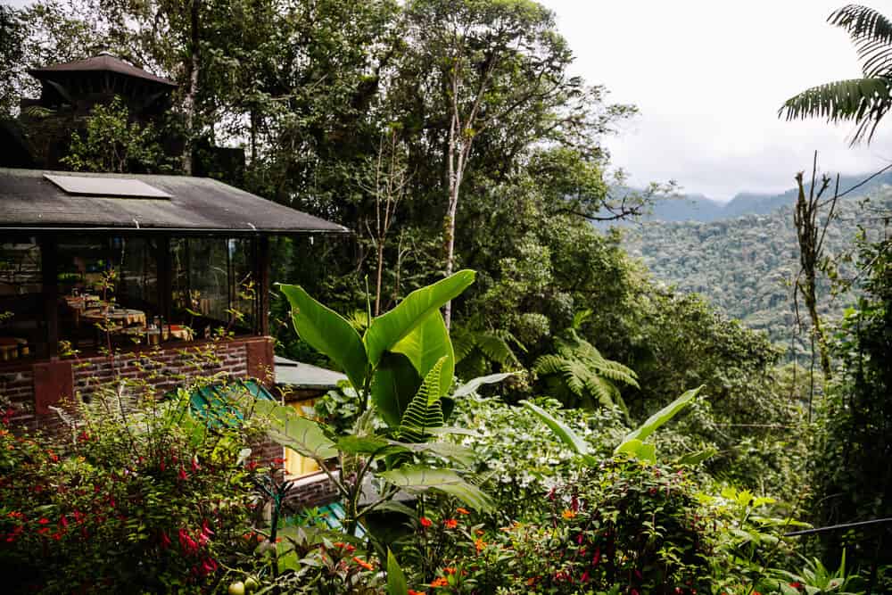
[{"label": "white overcast sky above the mountains", "polygon": [[[685,192],[731,199],[794,185],[814,150],[828,172],[892,161],[892,116],[870,147],[852,126],[778,120],[791,95],[861,74],[847,34],[827,23],[843,0],[543,0],[576,55],[576,74],[640,116],[607,146],[632,182],[675,179]],[[865,3],[892,16],[892,0]]]}]

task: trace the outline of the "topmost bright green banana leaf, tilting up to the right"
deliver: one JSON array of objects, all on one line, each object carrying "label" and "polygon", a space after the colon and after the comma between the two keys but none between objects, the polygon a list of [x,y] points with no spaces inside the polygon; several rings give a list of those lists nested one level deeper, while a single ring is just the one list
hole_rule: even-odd
[{"label": "topmost bright green banana leaf, tilting up to the right", "polygon": [[434,285],[409,293],[396,308],[374,318],[363,337],[369,363],[377,366],[384,351],[392,350],[394,345],[425,322],[425,318],[465,291],[468,285],[474,283],[474,277],[473,270],[459,270]]}]

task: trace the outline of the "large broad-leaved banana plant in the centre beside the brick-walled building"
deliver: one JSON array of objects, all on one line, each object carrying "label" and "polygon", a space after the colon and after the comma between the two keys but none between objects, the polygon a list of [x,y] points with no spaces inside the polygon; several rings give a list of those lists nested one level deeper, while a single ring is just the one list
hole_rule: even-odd
[{"label": "large broad-leaved banana plant in the centre beside the brick-walled building", "polygon": [[[510,376],[477,378],[450,396],[455,353],[440,308],[471,285],[474,277],[474,271],[462,270],[410,293],[393,310],[370,318],[362,335],[301,286],[280,285],[291,303],[298,335],[343,369],[360,395],[362,413],[352,432],[339,436],[290,407],[269,401],[258,401],[254,407],[268,417],[274,440],[315,460],[335,484],[349,534],[368,512],[399,508],[392,497],[401,490],[434,490],[472,508],[491,508],[486,494],[458,469],[415,463],[417,456],[435,455],[455,467],[468,467],[470,451],[434,440],[437,434],[450,431],[443,426],[453,409],[452,398]],[[386,424],[383,432],[375,429],[375,413]],[[374,498],[362,502],[363,482],[370,474],[383,480],[383,487]]]}]

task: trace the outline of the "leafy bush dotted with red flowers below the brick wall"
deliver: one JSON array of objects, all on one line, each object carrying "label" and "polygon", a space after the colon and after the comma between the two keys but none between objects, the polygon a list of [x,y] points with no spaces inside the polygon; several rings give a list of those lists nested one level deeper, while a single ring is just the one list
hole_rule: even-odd
[{"label": "leafy bush dotted with red flowers below the brick wall", "polygon": [[68,440],[0,432],[10,592],[199,592],[244,550],[252,434],[195,422],[186,393],[121,411],[95,399]]}]

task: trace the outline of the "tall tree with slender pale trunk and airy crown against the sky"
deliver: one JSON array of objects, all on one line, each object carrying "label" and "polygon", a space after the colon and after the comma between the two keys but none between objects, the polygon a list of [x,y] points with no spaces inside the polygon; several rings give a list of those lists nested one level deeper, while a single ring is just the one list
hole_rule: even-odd
[{"label": "tall tree with slender pale trunk and airy crown against the sky", "polygon": [[[572,54],[555,30],[554,14],[529,0],[417,0],[409,5],[410,53],[424,73],[425,112],[442,118],[446,209],[445,273],[455,263],[456,213],[462,184],[482,136],[503,136],[525,147],[534,128],[530,112],[549,112],[583,95],[582,81],[566,75]],[[551,126],[559,128],[555,111]],[[523,124],[527,125],[524,129]],[[441,129],[442,130],[442,129]],[[516,153],[515,153],[516,154]],[[451,302],[444,309],[450,325]]]}]

